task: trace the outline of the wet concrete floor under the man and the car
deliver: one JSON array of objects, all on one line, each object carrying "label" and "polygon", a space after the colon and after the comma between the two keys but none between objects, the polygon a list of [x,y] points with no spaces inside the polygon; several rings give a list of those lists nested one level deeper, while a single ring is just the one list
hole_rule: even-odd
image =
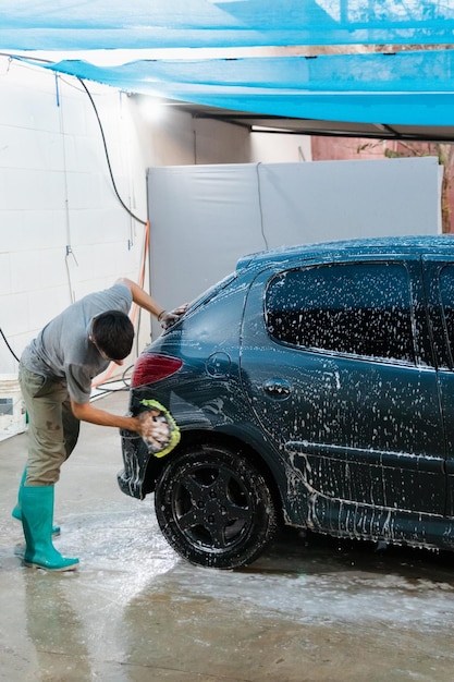
[{"label": "wet concrete floor under the man and the car", "polygon": [[[124,413],[127,395],[99,406]],[[454,561],[282,534],[244,571],[199,569],[125,497],[116,429],[83,425],[56,488],[56,547],[81,568],[21,565],[10,517],[26,436],[0,442],[0,680],[452,682]]]}]

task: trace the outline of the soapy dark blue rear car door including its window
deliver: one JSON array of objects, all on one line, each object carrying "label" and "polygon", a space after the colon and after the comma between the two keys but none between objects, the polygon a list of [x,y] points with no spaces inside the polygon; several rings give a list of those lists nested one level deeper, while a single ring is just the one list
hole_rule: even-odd
[{"label": "soapy dark blue rear car door including its window", "polygon": [[241,370],[309,491],[441,514],[444,431],[419,257],[262,271]]}]

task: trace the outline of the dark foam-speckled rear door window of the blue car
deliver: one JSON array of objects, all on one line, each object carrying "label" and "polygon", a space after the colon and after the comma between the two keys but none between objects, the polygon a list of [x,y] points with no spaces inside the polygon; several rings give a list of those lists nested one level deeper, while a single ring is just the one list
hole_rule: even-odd
[{"label": "dark foam-speckled rear door window of the blue car", "polygon": [[403,264],[298,268],[271,279],[268,332],[308,349],[415,363],[409,276]]}]

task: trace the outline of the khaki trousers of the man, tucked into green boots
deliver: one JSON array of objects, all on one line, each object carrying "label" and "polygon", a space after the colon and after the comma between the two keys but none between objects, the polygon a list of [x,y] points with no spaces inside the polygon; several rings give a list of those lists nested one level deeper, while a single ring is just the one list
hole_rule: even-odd
[{"label": "khaki trousers of the man, tucked into green boots", "polygon": [[49,486],[74,450],[79,421],[71,410],[63,379],[51,379],[19,365],[19,381],[28,414],[27,486]]}]

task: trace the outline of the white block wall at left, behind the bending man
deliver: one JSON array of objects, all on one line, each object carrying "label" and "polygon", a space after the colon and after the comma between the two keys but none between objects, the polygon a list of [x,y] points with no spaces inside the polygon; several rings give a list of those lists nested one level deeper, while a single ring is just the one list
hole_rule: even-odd
[{"label": "white block wall at left, behind the bending man", "polygon": [[[0,73],[0,327],[19,355],[72,300],[137,277],[144,228],[114,196],[81,84],[4,58]],[[127,126],[118,125],[123,98],[90,89],[118,188],[146,218],[144,171],[131,173]],[[0,372],[15,369],[0,340]]]}]

